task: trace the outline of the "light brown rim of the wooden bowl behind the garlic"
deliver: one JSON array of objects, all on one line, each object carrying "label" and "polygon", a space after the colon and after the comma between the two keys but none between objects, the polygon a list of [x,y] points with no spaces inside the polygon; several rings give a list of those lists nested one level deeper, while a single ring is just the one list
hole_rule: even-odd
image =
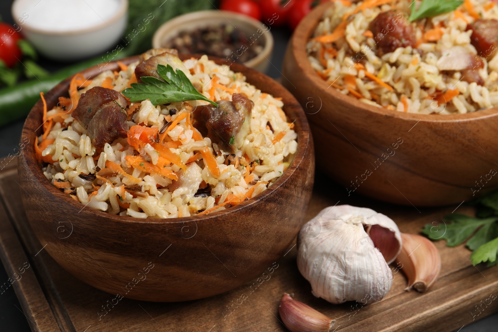
[{"label": "light brown rim of the wooden bowl behind the garlic", "polygon": [[[330,94],[334,99],[343,100],[347,104],[350,104],[353,108],[361,109],[362,111],[370,111],[383,116],[399,118],[410,122],[462,122],[471,119],[485,119],[491,116],[497,116],[498,107],[482,111],[467,112],[464,114],[420,114],[389,111],[387,109],[384,109],[383,107],[372,106],[367,103],[361,102],[357,98],[351,97],[349,95],[344,95],[337,91],[337,89],[335,88],[329,89],[329,84],[320,76],[318,76],[313,67],[311,67],[311,63],[309,62],[308,55],[306,53],[306,44],[315,31],[315,28],[322,18],[325,10],[333,5],[335,5],[333,1],[326,1],[325,3],[321,3],[320,5],[316,6],[308,15],[306,15],[301,20],[290,40],[290,47],[292,49],[298,67],[303,71],[304,75],[308,77],[308,79],[310,79],[313,84],[316,85],[320,92]],[[442,118],[435,118],[436,116]]]}]

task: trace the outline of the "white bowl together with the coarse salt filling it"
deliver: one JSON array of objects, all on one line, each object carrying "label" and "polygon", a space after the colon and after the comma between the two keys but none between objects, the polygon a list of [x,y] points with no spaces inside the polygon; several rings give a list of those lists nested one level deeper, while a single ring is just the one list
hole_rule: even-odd
[{"label": "white bowl together with the coarse salt filling it", "polygon": [[15,0],[12,17],[44,56],[74,61],[103,53],[126,27],[127,0]]}]

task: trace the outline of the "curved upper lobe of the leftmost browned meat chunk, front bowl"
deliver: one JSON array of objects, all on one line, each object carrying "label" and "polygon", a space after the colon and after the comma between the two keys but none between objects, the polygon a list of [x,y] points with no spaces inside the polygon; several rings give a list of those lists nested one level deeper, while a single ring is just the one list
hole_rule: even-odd
[{"label": "curved upper lobe of the leftmost browned meat chunk, front bowl", "polygon": [[81,95],[78,106],[73,111],[72,116],[87,128],[90,120],[103,105],[115,101],[120,107],[126,107],[126,99],[118,91],[103,87],[93,87]]}]

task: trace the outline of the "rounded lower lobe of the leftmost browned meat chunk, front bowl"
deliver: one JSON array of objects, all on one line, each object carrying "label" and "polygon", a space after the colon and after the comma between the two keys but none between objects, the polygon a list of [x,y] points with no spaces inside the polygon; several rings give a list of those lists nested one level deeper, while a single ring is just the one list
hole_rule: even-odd
[{"label": "rounded lower lobe of the leftmost browned meat chunk, front bowl", "polygon": [[126,113],[118,104],[109,103],[95,113],[87,133],[94,146],[102,148],[118,137],[126,137],[127,131]]}]

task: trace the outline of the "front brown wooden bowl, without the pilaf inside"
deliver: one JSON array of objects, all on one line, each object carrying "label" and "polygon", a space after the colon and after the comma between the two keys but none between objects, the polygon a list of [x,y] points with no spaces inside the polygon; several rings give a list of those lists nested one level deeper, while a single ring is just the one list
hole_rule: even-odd
[{"label": "front brown wooden bowl, without the pilaf inside", "polygon": [[[118,68],[109,63],[105,69]],[[232,69],[262,92],[282,98],[283,110],[295,121],[298,149],[288,170],[269,189],[241,205],[204,216],[143,220],[84,208],[52,186],[35,160],[32,142],[41,130],[41,101],[34,106],[21,137],[31,144],[18,160],[19,184],[34,233],[61,266],[112,294],[173,302],[234,289],[282,254],[304,221],[313,186],[308,123],[299,103],[280,84],[240,64]],[[96,66],[82,74],[91,78],[100,71]],[[69,81],[46,94],[49,109],[58,97],[66,96]],[[147,282],[142,281],[145,278]]]}]

